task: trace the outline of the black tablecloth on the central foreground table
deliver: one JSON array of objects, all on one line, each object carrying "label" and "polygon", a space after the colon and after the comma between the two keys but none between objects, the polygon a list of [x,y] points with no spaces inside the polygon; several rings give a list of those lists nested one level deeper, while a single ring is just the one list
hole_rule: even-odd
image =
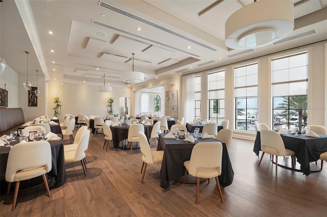
[{"label": "black tablecloth on the central foreground table", "polygon": [[[196,143],[185,143],[182,139],[164,139],[167,133],[159,134],[159,141],[157,150],[164,151],[164,159],[162,159],[160,170],[160,186],[168,188],[170,181],[182,177],[185,173],[184,161],[190,160],[193,146]],[[193,134],[193,133],[191,133]],[[198,139],[199,142],[213,142],[218,141],[214,138]],[[229,159],[228,151],[225,143],[223,144],[222,153],[222,168],[221,175],[218,176],[219,183],[222,186],[228,186],[232,183],[234,172]]]}]

